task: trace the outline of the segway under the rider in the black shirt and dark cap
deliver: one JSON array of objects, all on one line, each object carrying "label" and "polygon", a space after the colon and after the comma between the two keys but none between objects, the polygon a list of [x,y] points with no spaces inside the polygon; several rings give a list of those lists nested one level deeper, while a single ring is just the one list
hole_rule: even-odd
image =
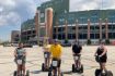
[{"label": "segway under the rider in the black shirt and dark cap", "polygon": [[80,56],[81,56],[81,54],[74,54],[73,55],[73,59],[76,62],[74,64],[72,64],[72,72],[73,73],[83,73],[83,65],[82,64],[79,65]]}]

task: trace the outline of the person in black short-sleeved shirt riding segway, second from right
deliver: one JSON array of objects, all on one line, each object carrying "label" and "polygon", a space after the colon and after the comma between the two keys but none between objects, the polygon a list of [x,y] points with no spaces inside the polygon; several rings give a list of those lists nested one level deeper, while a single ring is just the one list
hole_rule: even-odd
[{"label": "person in black short-sleeved shirt riding segway, second from right", "polygon": [[74,64],[72,64],[72,72],[77,73],[83,73],[83,65],[81,64],[80,58],[81,58],[81,51],[82,47],[79,45],[79,42],[74,42],[72,46],[72,55],[74,60]]}]

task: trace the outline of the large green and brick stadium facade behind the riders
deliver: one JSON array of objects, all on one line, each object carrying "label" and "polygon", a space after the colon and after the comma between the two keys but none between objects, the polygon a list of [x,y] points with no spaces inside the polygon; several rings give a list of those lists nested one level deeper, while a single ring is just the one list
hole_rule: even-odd
[{"label": "large green and brick stadium facade behind the riders", "polygon": [[[21,36],[24,42],[36,43],[37,35],[42,41],[46,36],[47,8],[53,9],[53,39],[60,41],[79,40],[87,43],[99,43],[100,40],[115,40],[115,10],[69,11],[69,0],[50,0],[37,8],[33,20],[24,22],[21,26]],[[36,24],[38,27],[36,27]]]}]

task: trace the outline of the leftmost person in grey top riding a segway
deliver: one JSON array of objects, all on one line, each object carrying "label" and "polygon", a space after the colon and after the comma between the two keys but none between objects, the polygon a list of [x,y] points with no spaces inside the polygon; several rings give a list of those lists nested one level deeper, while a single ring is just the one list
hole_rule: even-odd
[{"label": "leftmost person in grey top riding a segway", "polygon": [[[19,48],[14,51],[14,61],[18,65],[18,71],[14,71],[14,76],[25,76],[26,51],[22,42],[19,43]],[[26,76],[30,76],[28,71],[26,71]]]}]

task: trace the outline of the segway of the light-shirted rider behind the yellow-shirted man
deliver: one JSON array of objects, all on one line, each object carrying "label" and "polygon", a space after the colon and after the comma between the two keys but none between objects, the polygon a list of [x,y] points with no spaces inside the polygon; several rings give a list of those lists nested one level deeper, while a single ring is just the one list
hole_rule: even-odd
[{"label": "segway of the light-shirted rider behind the yellow-shirted man", "polygon": [[42,64],[42,71],[48,72],[49,71],[49,66],[48,66],[49,54],[44,53],[44,58],[45,58],[45,63]]}]

